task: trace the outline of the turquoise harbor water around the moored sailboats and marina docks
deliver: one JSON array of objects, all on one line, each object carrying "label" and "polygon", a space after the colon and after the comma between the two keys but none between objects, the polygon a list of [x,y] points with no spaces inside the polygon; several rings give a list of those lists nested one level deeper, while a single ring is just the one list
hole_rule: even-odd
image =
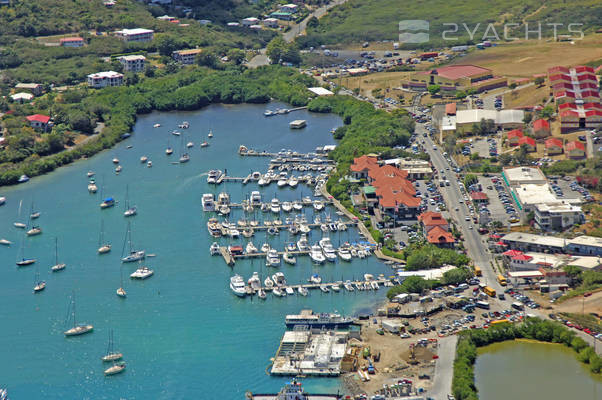
[{"label": "turquoise harbor water around the moored sailboats and marina docks", "polygon": [[[282,106],[271,104],[270,108]],[[227,168],[230,175],[237,176],[263,172],[269,159],[239,157],[240,144],[260,150],[308,152],[334,143],[329,131],[341,125],[337,116],[306,111],[265,118],[264,109],[260,105],[216,105],[191,113],[145,115],[139,118],[132,137],[116,148],[27,184],[0,189],[0,195],[7,197],[7,204],[0,207],[0,237],[13,241],[10,248],[0,247],[0,386],[8,387],[12,399],[236,399],[243,398],[247,390],[274,391],[287,378],[269,377],[265,369],[278,348],[286,314],[302,308],[353,314],[384,298],[383,289],[313,292],[306,298],[268,296],[266,301],[239,299],[230,292],[233,272],[221,257],[209,255],[212,240],[200,197],[227,189],[233,200],[240,200],[257,186],[228,183],[213,188],[201,174],[212,168]],[[293,119],[306,119],[308,127],[290,130],[288,122]],[[190,129],[182,130],[183,140],[195,142],[195,147],[190,149],[189,163],[173,165],[180,146],[168,132],[183,120],[191,124]],[[162,124],[161,128],[153,129],[155,123]],[[210,129],[215,137],[206,139]],[[164,153],[168,139],[175,149],[171,158]],[[210,140],[210,147],[199,147],[204,140]],[[127,149],[127,145],[133,148]],[[140,163],[142,155],[153,161],[152,168]],[[121,160],[120,175],[113,172],[113,157]],[[120,201],[117,206],[100,210],[100,190],[96,195],[87,192],[88,170],[96,172],[105,197]],[[115,290],[120,284],[119,258],[126,231],[123,200],[128,184],[131,202],[138,206],[138,215],[131,219],[134,245],[157,256],[147,259],[155,276],[144,282],[131,281],[127,276],[136,266],[125,265],[128,297],[120,299]],[[268,198],[277,194],[280,199],[312,193],[302,185],[292,190],[273,184],[260,190]],[[36,295],[32,293],[36,265],[15,266],[24,235],[12,226],[20,200],[23,215],[29,214],[32,200],[42,213],[38,223],[43,234],[25,240],[25,256],[37,258],[41,278],[47,281],[46,290]],[[331,212],[334,216],[334,210]],[[313,219],[311,211],[307,216]],[[113,251],[104,256],[96,253],[101,218],[105,237],[113,245]],[[236,215],[231,218],[236,219]],[[55,236],[59,238],[60,261],[67,263],[66,270],[59,273],[50,272]],[[269,239],[278,248],[287,240],[286,233],[280,236]],[[319,237],[314,232],[310,241]],[[357,233],[348,230],[331,234],[331,238],[336,245],[357,239]],[[258,246],[265,237],[253,240]],[[244,239],[240,242],[246,243]],[[253,271],[263,271],[265,276],[262,264],[260,260],[239,261],[234,270],[245,279]],[[283,264],[281,270],[291,283],[305,281],[315,272],[330,280],[389,271],[374,258],[317,267],[301,258],[296,266]],[[62,332],[72,291],[78,320],[94,324],[95,329],[92,334],[67,339]],[[105,378],[100,357],[111,328],[127,370]],[[305,380],[312,390],[336,391],[338,385],[336,379]]]}]

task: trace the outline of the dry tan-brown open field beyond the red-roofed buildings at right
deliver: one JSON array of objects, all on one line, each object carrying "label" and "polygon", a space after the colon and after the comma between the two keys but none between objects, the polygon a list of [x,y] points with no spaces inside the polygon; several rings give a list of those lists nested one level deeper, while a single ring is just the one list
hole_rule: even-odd
[{"label": "dry tan-brown open field beyond the red-roofed buildings at right", "polygon": [[580,65],[602,58],[602,35],[570,42],[522,41],[474,51],[455,64],[491,68],[498,75],[530,78],[556,65]]}]

